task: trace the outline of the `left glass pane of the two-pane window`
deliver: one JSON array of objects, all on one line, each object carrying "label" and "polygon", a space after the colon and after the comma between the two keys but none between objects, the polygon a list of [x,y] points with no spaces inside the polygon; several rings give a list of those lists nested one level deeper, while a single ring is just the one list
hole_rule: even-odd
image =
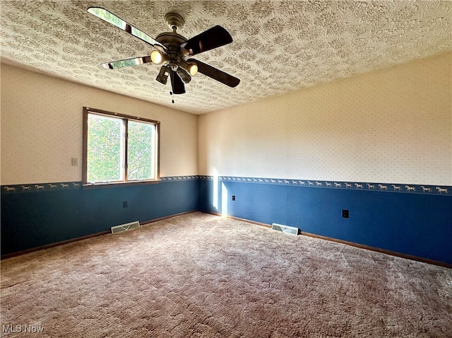
[{"label": "left glass pane of the two-pane window", "polygon": [[124,179],[123,126],[120,119],[88,115],[88,182]]}]

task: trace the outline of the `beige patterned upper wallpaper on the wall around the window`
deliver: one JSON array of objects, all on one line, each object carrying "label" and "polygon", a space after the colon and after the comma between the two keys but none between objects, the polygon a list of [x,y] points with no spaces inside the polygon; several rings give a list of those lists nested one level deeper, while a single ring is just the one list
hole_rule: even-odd
[{"label": "beige patterned upper wallpaper on the wall around the window", "polygon": [[159,120],[160,175],[198,173],[196,115],[1,64],[1,185],[81,181],[83,106]]}]

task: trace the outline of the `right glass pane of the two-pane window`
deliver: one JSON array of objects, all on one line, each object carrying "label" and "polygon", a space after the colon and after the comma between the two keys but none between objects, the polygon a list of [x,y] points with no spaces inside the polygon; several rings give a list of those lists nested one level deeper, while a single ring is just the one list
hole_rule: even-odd
[{"label": "right glass pane of the two-pane window", "polygon": [[127,179],[155,178],[155,125],[129,121]]}]

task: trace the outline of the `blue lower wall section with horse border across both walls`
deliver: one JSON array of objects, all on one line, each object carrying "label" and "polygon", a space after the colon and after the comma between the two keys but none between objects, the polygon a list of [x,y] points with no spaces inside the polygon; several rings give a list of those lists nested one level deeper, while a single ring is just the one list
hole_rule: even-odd
[{"label": "blue lower wall section with horse border across both walls", "polygon": [[2,186],[1,255],[193,210],[452,264],[452,187],[208,176],[90,189],[80,182]]}]

